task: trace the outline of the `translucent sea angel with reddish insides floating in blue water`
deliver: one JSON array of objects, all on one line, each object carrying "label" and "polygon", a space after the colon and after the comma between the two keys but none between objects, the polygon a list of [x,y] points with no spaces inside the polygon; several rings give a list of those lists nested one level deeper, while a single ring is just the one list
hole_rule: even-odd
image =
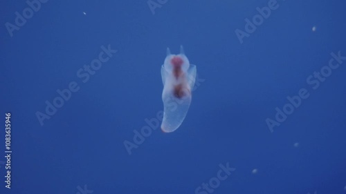
[{"label": "translucent sea angel with reddish insides floating in blue water", "polygon": [[170,48],[167,48],[167,56],[161,67],[163,132],[173,132],[185,119],[191,104],[196,72],[196,66],[190,64],[183,46],[180,47],[179,55],[172,55]]}]

